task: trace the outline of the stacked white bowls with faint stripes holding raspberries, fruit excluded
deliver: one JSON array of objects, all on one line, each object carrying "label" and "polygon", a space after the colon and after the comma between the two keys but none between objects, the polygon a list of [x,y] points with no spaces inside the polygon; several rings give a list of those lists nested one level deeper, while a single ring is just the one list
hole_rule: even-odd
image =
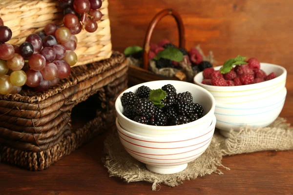
[{"label": "stacked white bowls with faint stripes holding raspberries, fruit excluded", "polygon": [[216,100],[216,127],[222,135],[227,136],[230,129],[238,130],[240,126],[266,127],[279,116],[287,94],[287,71],[268,63],[261,63],[261,69],[267,74],[274,72],[277,77],[251,85],[221,87],[202,84],[202,72],[195,76],[194,82]]}]

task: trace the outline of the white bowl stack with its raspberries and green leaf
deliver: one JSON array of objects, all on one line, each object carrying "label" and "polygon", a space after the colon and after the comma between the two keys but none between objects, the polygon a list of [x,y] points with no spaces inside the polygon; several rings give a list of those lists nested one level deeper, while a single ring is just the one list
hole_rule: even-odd
[{"label": "white bowl stack with its raspberries and green leaf", "polygon": [[216,128],[228,131],[243,126],[266,127],[281,113],[287,90],[287,71],[279,65],[238,56],[223,66],[206,69],[194,77],[216,100]]}]

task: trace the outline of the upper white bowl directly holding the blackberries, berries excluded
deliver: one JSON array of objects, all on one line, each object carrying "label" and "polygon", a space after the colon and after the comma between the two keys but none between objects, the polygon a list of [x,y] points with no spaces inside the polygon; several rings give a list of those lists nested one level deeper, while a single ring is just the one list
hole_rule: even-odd
[{"label": "upper white bowl directly holding the blackberries, berries excluded", "polygon": [[[199,103],[203,106],[205,116],[196,121],[183,125],[152,126],[135,122],[122,114],[124,108],[121,103],[121,97],[124,93],[135,93],[137,88],[142,85],[146,85],[151,89],[158,89],[166,84],[173,85],[176,88],[177,93],[182,93],[186,91],[190,92],[193,97],[193,102]],[[146,137],[176,137],[181,134],[191,135],[193,132],[207,129],[210,126],[212,118],[214,116],[215,100],[207,90],[195,84],[175,80],[157,80],[135,85],[127,89],[117,98],[115,102],[115,108],[119,124],[122,126],[123,129],[130,133]]]}]

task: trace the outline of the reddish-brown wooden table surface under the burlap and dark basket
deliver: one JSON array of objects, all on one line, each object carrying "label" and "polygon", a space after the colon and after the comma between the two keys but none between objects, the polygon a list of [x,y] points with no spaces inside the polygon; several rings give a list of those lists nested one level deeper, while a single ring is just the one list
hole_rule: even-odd
[{"label": "reddish-brown wooden table surface under the burlap and dark basket", "polygon": [[[291,122],[292,97],[290,90],[281,113]],[[150,183],[125,183],[108,176],[101,162],[105,136],[96,137],[48,170],[30,172],[0,163],[0,195],[293,195],[293,151],[224,156],[222,164],[230,168],[220,168],[224,175],[211,174],[173,188],[162,184],[159,192],[152,192]]]}]

